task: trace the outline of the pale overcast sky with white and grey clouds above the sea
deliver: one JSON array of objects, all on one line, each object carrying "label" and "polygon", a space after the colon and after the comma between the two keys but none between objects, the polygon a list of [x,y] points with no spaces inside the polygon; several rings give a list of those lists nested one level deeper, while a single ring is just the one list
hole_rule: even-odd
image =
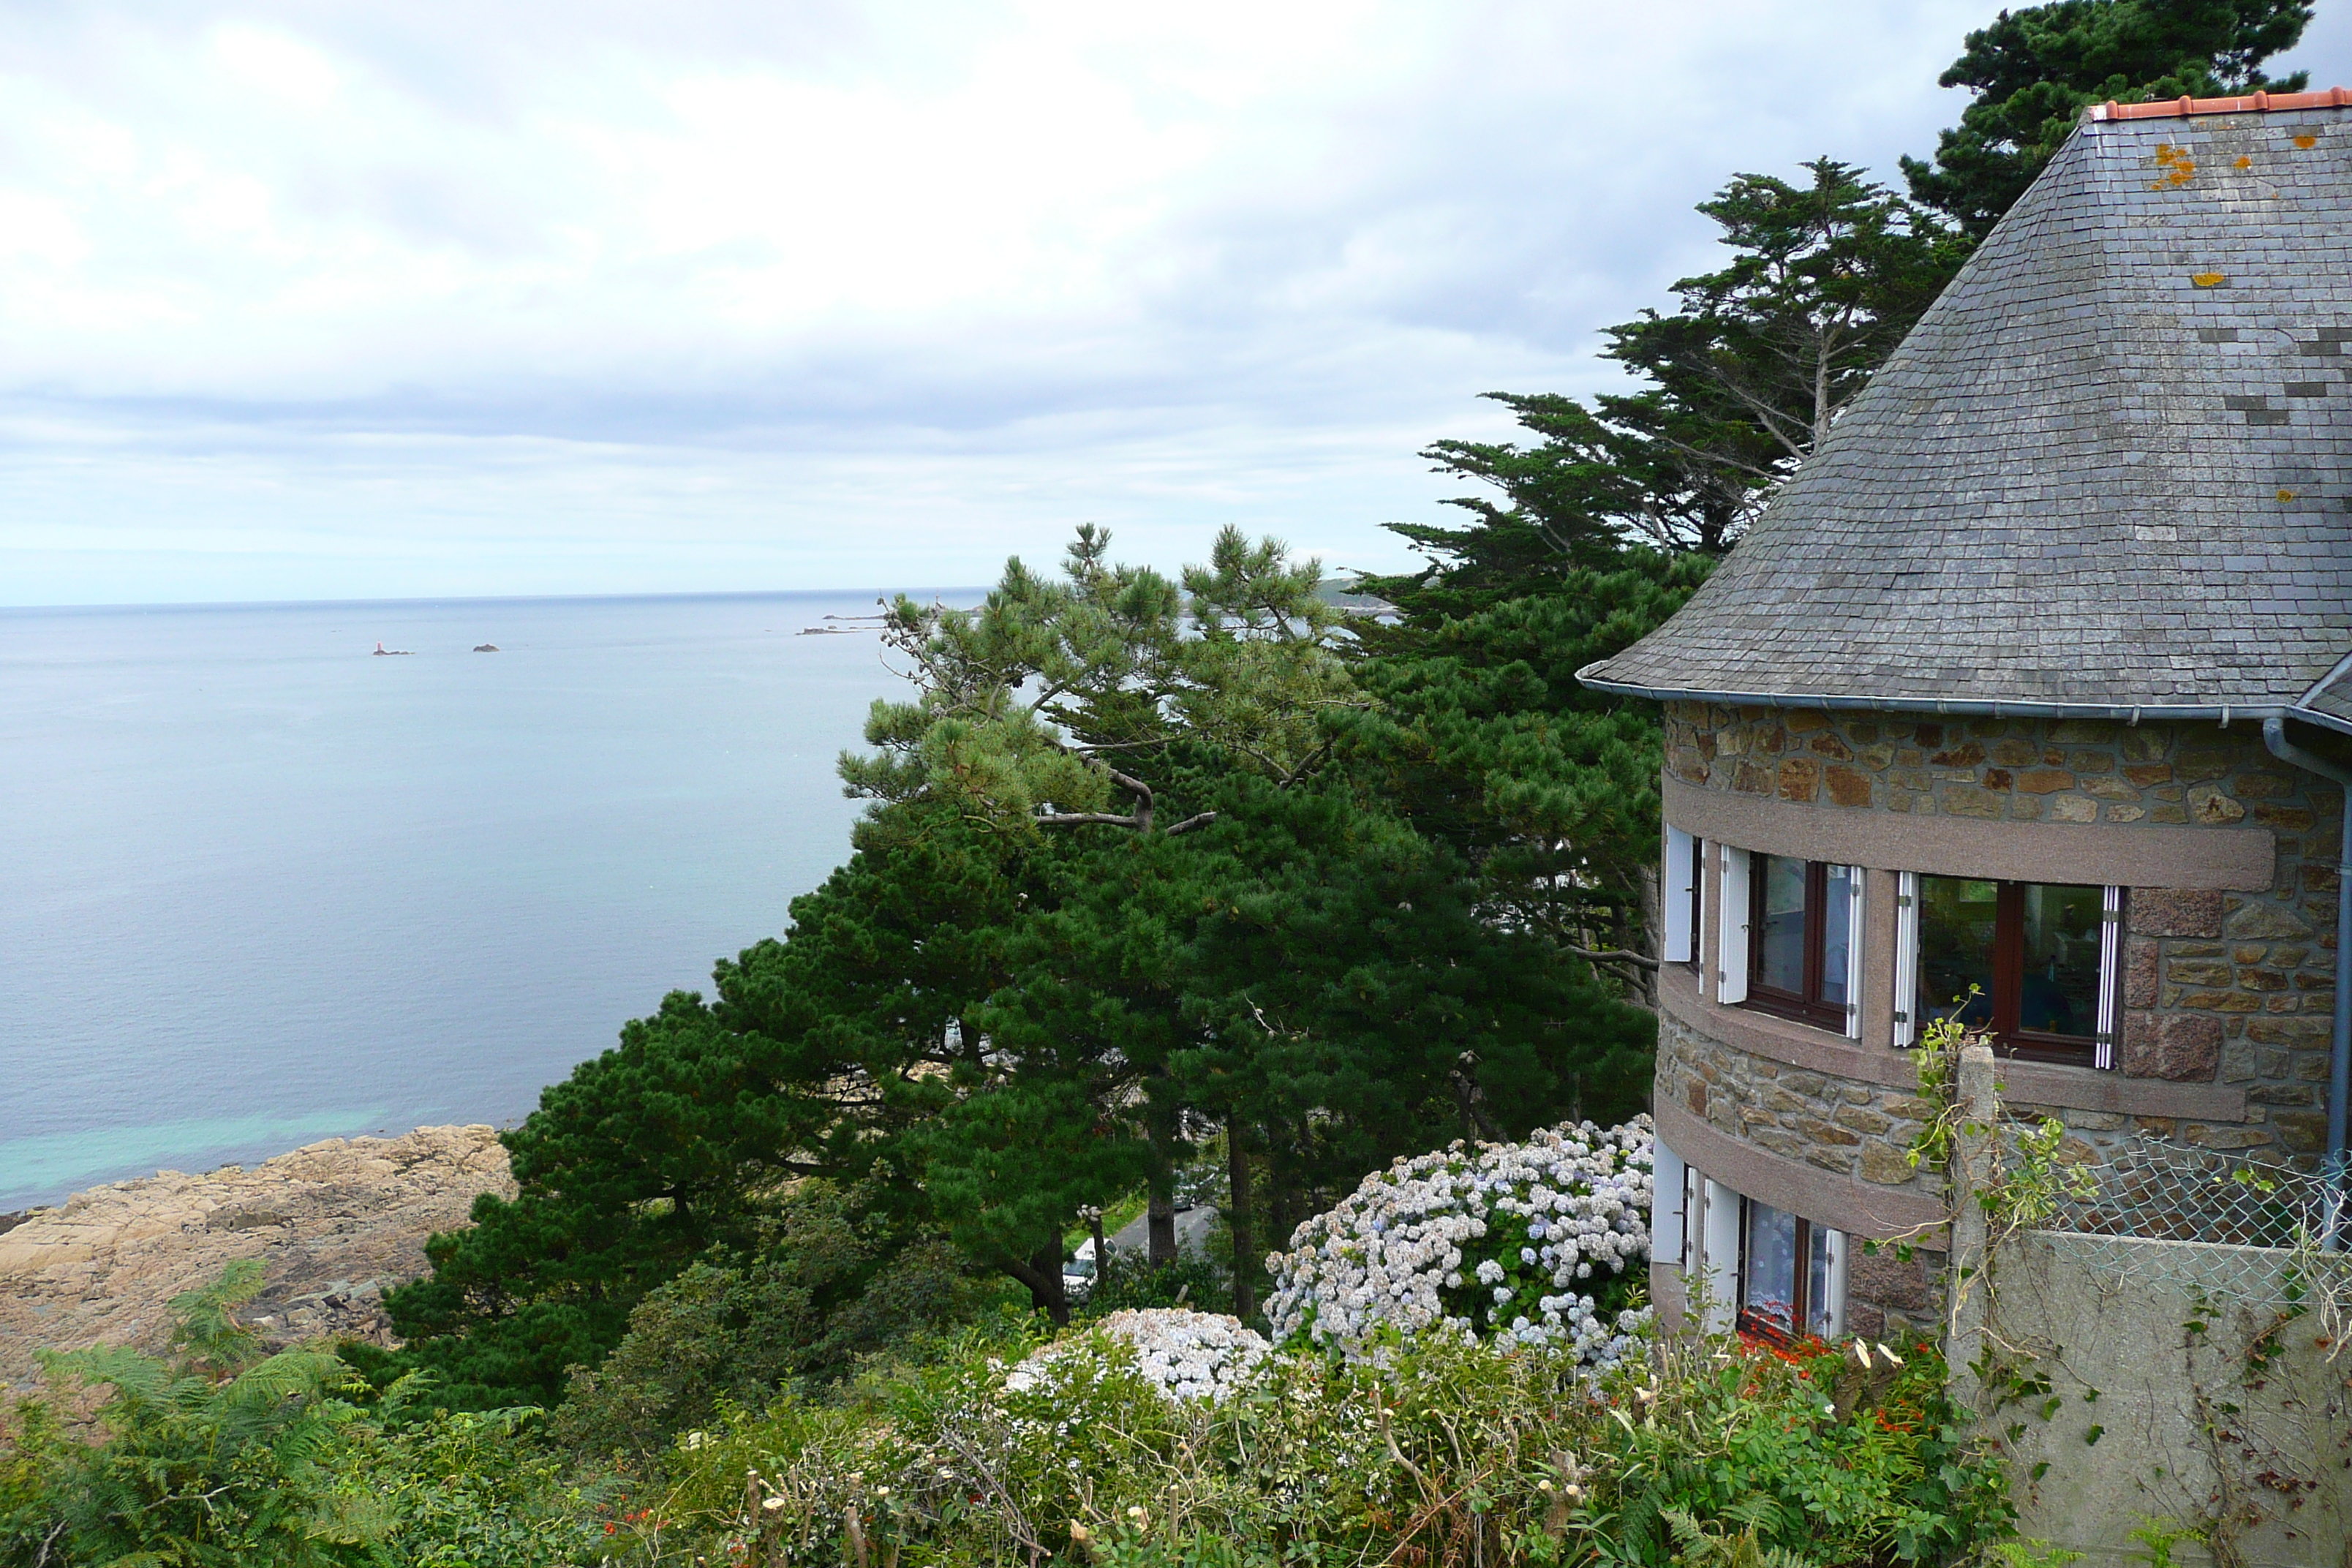
[{"label": "pale overcast sky with white and grey clouds above the sea", "polygon": [[0,0],[0,604],[1395,569],[1994,9]]}]

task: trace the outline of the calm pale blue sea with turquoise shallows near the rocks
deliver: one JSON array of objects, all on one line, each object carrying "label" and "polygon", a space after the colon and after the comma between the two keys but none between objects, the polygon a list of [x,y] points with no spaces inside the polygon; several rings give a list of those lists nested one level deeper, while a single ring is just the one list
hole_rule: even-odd
[{"label": "calm pale blue sea with turquoise shallows near the rocks", "polygon": [[708,992],[849,849],[896,682],[828,611],[0,611],[0,1211],[508,1121]]}]

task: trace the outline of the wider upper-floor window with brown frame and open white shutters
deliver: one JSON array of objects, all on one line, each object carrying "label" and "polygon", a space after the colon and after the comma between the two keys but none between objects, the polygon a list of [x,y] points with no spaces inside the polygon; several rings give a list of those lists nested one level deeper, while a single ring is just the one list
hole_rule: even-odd
[{"label": "wider upper-floor window with brown frame and open white shutters", "polygon": [[1919,877],[1917,900],[1922,1020],[1959,1018],[2006,1056],[2114,1065],[2122,889]]}]

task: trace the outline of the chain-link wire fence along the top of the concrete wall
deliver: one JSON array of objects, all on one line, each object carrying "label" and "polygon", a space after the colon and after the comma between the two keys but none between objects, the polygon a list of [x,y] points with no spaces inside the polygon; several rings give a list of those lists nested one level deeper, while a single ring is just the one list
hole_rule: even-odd
[{"label": "chain-link wire fence along the top of the concrete wall", "polygon": [[[2039,1229],[2060,1253],[2199,1291],[2216,1305],[2321,1307],[2352,1295],[2352,1208],[2340,1185],[2244,1152],[2143,1140]],[[2107,1239],[2176,1246],[2119,1248]]]}]

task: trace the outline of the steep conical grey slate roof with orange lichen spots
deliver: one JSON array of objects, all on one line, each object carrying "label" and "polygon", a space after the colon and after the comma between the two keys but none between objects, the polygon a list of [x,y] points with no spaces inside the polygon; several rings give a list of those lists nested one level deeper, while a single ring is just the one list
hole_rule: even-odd
[{"label": "steep conical grey slate roof with orange lichen spots", "polygon": [[2352,651],[2345,96],[2091,110],[1715,578],[1583,679],[2352,729],[2352,682],[2314,691]]}]

